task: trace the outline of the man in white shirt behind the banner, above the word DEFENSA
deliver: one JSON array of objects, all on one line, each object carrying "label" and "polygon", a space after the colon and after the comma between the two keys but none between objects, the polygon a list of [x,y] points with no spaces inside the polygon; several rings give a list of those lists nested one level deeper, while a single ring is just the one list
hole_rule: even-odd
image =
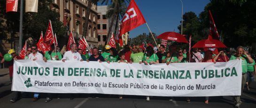
[{"label": "man in white shirt behind the banner, above the word DEFENSA", "polygon": [[77,52],[77,44],[72,43],[70,47],[70,51],[63,55],[62,61],[83,61],[81,55]]}]

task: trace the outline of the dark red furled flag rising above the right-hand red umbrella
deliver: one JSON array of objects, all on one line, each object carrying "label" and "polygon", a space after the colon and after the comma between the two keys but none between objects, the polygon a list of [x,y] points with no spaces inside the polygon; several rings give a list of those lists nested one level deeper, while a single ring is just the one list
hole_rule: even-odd
[{"label": "dark red furled flag rising above the right-hand red umbrella", "polygon": [[209,10],[209,22],[210,22],[210,35],[212,36],[213,39],[219,40],[219,34],[217,31],[217,27],[215,26],[215,23],[214,23],[214,20],[213,20],[210,10]]}]

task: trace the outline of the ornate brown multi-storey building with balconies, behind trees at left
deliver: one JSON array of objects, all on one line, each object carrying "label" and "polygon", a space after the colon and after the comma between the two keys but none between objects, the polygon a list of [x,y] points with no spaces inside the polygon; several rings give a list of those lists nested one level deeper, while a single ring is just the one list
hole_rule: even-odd
[{"label": "ornate brown multi-storey building with balconies, behind trees at left", "polygon": [[[97,1],[98,0],[93,0],[92,2],[86,35],[88,44],[93,47],[98,46]],[[67,27],[67,30],[69,31],[67,37],[72,31],[75,40],[78,42],[83,34],[88,0],[53,0],[50,7],[60,14],[60,20],[63,22],[63,26]],[[68,38],[62,41],[63,44],[67,43],[67,39]]]}]

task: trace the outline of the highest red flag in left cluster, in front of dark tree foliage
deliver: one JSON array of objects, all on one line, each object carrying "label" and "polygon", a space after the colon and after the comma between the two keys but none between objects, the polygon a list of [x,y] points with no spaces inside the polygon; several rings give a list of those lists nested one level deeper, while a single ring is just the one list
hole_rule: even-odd
[{"label": "highest red flag in left cluster, in front of dark tree foliage", "polygon": [[51,46],[54,43],[54,33],[51,20],[49,20],[44,41],[48,44],[48,46]]}]

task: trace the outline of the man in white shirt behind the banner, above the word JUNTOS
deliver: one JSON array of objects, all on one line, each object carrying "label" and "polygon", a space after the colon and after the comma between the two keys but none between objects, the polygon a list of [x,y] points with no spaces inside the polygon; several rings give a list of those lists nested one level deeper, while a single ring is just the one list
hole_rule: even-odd
[{"label": "man in white shirt behind the banner, above the word JUNTOS", "polygon": [[[32,45],[31,50],[32,50],[32,53],[29,54],[29,58],[28,58],[29,60],[32,60],[32,61],[43,60],[44,56],[43,54],[38,52],[38,48],[36,45]],[[39,93],[35,93],[33,101],[37,101],[38,97],[39,97]]]}]

